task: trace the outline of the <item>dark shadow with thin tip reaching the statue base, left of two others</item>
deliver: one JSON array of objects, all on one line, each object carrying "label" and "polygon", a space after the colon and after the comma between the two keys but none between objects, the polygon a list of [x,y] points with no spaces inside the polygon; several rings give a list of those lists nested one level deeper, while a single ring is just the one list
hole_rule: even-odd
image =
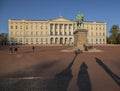
[{"label": "dark shadow with thin tip reaching the statue base, left of two others", "polygon": [[54,91],[67,91],[68,85],[73,78],[72,66],[77,56],[78,54],[75,54],[70,64],[63,71],[56,74],[55,77],[51,80]]}]

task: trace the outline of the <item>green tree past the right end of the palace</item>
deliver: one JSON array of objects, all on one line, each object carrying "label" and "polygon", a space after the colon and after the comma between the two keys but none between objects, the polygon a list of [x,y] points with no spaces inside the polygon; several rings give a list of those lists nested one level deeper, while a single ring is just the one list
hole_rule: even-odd
[{"label": "green tree past the right end of the palace", "polygon": [[117,44],[117,37],[119,34],[119,26],[118,25],[113,25],[112,28],[110,29],[110,37],[108,43],[112,44]]}]

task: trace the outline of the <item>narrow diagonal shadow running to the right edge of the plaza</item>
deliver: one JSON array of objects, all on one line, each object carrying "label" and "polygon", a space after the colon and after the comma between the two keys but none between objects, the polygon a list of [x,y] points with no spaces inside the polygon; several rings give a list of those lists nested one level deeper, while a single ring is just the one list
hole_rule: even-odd
[{"label": "narrow diagonal shadow running to the right edge of the plaza", "polygon": [[120,86],[120,77],[113,73],[102,60],[96,57],[96,62],[108,73],[109,76]]}]

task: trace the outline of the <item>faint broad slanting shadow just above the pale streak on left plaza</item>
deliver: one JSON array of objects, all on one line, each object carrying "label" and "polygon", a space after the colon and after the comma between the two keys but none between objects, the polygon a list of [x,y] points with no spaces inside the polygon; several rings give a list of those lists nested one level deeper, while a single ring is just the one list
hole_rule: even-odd
[{"label": "faint broad slanting shadow just above the pale streak on left plaza", "polygon": [[9,73],[8,75],[2,76],[1,78],[39,77],[41,73],[45,72],[54,65],[57,65],[59,62],[60,60],[53,60],[45,64],[38,64],[23,70],[16,71],[14,73]]}]

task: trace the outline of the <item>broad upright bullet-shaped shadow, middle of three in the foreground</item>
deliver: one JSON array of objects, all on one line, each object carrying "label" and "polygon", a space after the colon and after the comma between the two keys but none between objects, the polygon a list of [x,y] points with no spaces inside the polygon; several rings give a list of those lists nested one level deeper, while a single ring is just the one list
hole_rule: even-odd
[{"label": "broad upright bullet-shaped shadow, middle of three in the foreground", "polygon": [[77,79],[79,91],[92,91],[90,77],[87,69],[88,66],[85,64],[85,62],[83,62],[80,66],[80,71]]}]

